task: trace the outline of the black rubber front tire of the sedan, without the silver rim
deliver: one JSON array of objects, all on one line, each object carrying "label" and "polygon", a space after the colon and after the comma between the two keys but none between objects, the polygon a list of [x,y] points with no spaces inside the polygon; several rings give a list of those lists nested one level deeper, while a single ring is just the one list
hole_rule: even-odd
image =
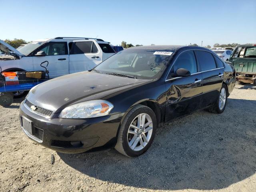
[{"label": "black rubber front tire of the sedan, without the silver rim", "polygon": [[[128,138],[127,138],[128,130],[129,130],[130,124],[132,123],[134,118],[136,118],[136,116],[138,116],[139,114],[142,114],[142,113],[148,114],[150,116],[150,118],[152,119],[152,123],[153,123],[152,135],[151,135],[150,140],[148,141],[148,144],[144,148],[142,148],[142,150],[134,151],[128,145]],[[144,105],[138,104],[138,105],[134,106],[128,112],[128,114],[126,114],[122,124],[120,125],[115,149],[118,152],[120,152],[123,155],[126,155],[128,157],[140,156],[141,154],[146,152],[146,150],[148,150],[148,148],[151,146],[151,144],[154,140],[155,134],[156,134],[156,128],[157,128],[157,121],[156,121],[156,115],[154,114],[154,112],[149,107],[144,106]]]}]

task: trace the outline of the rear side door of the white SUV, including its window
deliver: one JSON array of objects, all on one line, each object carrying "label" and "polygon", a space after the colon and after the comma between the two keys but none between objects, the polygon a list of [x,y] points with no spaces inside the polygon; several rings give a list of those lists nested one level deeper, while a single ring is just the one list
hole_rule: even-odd
[{"label": "rear side door of the white SUV, including its window", "polygon": [[88,71],[102,62],[102,50],[93,40],[69,43],[69,73]]}]

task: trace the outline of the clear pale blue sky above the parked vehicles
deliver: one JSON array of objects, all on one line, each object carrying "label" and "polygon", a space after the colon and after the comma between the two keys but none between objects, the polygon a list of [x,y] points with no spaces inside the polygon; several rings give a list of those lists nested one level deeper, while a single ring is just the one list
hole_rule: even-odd
[{"label": "clear pale blue sky above the parked vehicles", "polygon": [[256,43],[256,0],[0,0],[0,39],[102,38],[113,45]]}]

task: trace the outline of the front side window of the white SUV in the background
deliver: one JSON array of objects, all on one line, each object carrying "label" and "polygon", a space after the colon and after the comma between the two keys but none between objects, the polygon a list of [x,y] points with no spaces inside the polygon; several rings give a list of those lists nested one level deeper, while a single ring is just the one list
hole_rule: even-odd
[{"label": "front side window of the white SUV in the background", "polygon": [[44,51],[46,56],[51,55],[67,55],[68,46],[66,42],[50,42],[40,51]]}]

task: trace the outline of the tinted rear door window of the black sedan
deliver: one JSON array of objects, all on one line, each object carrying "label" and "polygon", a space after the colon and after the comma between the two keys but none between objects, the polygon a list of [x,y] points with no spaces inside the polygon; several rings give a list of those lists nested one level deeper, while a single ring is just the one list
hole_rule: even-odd
[{"label": "tinted rear door window of the black sedan", "polygon": [[196,51],[201,71],[207,71],[216,68],[215,60],[210,52]]}]

